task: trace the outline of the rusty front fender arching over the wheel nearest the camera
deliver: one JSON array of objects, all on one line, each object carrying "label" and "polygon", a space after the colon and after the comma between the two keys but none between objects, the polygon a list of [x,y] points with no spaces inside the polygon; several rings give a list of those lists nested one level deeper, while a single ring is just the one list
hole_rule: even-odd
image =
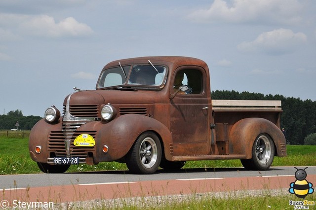
[{"label": "rusty front fender arching over the wheel nearest the camera", "polygon": [[169,150],[172,136],[169,129],[154,118],[139,114],[126,114],[100,127],[96,138],[109,147],[109,152],[104,154],[102,146],[98,146],[95,162],[114,161],[124,157],[138,136],[145,131],[154,131],[158,134],[162,140],[166,158],[172,160]]}]

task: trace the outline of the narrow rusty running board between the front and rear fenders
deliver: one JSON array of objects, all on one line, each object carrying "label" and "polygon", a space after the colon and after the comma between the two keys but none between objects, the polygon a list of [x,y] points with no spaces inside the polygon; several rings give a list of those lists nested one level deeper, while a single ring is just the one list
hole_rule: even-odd
[{"label": "narrow rusty running board between the front and rear fenders", "polygon": [[229,160],[229,159],[246,159],[246,155],[179,155],[173,156],[173,161],[189,161],[189,160]]}]

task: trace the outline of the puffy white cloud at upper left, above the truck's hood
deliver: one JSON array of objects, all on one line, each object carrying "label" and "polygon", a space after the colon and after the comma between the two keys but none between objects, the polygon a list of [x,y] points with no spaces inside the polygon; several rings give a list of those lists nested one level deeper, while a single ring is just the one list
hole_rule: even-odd
[{"label": "puffy white cloud at upper left, above the truck's hood", "polygon": [[93,33],[88,25],[79,23],[73,17],[68,17],[56,23],[55,19],[48,15],[28,18],[20,24],[20,29],[27,34],[48,37],[84,36]]}]

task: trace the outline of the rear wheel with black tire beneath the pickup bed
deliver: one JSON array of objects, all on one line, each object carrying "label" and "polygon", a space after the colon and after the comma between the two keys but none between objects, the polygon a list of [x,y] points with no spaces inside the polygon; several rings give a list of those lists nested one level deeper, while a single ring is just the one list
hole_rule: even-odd
[{"label": "rear wheel with black tire beneath the pickup bed", "polygon": [[268,170],[275,157],[275,145],[267,134],[260,134],[252,146],[252,158],[240,160],[247,170]]}]

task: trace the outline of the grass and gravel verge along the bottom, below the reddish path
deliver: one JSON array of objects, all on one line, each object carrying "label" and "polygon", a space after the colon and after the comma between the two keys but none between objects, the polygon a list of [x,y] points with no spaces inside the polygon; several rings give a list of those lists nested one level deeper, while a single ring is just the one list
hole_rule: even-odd
[{"label": "grass and gravel verge along the bottom, below the reddish path", "polygon": [[[315,194],[308,195],[309,201],[315,201]],[[231,191],[175,196],[155,196],[120,198],[115,200],[94,200],[60,204],[68,209],[94,210],[285,210],[294,209],[289,200],[301,201],[286,189]],[[300,206],[301,207],[301,206]],[[315,206],[305,206],[314,209]]]}]

